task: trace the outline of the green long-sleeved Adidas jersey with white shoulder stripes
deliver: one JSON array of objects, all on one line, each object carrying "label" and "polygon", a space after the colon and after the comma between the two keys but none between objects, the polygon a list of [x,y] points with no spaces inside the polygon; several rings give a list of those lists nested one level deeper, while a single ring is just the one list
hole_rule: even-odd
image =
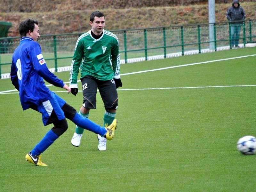
[{"label": "green long-sleeved Adidas jersey with white shoulder stripes", "polygon": [[114,77],[120,78],[120,55],[117,36],[103,29],[102,36],[95,39],[92,37],[91,31],[92,29],[77,39],[69,79],[71,88],[77,86],[79,67],[81,68],[81,78],[86,75],[103,81]]}]

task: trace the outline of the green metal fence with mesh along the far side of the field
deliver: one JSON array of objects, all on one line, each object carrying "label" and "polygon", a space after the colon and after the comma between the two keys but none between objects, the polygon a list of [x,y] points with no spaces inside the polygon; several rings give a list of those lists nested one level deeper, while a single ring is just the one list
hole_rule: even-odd
[{"label": "green metal fence with mesh along the far side of the field", "polygon": [[[232,49],[231,25],[232,22],[216,22],[112,32],[119,39],[121,63],[129,63]],[[209,31],[214,33],[211,40]],[[42,35],[39,38],[38,43],[48,68],[55,72],[69,70],[66,66],[71,64],[74,47],[80,35],[81,33]],[[256,43],[256,20],[243,22],[239,43],[240,47]],[[8,78],[12,53],[19,44],[20,37],[0,38],[0,78]]]}]

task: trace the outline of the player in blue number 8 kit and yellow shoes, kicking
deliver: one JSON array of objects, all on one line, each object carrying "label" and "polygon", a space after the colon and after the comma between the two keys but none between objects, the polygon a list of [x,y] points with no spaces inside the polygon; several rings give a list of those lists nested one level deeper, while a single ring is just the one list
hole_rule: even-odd
[{"label": "player in blue number 8 kit and yellow shoes, kicking", "polygon": [[66,89],[68,93],[71,92],[68,85],[52,74],[46,66],[40,44],[36,42],[40,37],[38,22],[33,19],[22,21],[19,25],[19,32],[20,45],[12,56],[12,84],[20,92],[20,103],[23,110],[32,108],[42,113],[44,125],[54,125],[26,155],[26,160],[37,166],[47,166],[42,162],[41,153],[68,129],[66,118],[84,129],[104,135],[108,140],[112,140],[116,130],[116,119],[107,128],[100,127],[89,119],[80,116],[65,100],[45,86],[44,80]]}]

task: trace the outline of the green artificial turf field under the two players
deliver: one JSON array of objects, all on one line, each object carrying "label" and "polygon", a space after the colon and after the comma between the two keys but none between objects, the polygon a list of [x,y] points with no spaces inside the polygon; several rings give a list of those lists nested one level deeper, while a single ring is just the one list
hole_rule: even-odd
[{"label": "green artificial turf field under the two players", "polygon": [[[256,136],[256,55],[222,59],[255,53],[245,48],[121,65],[118,127],[107,150],[97,150],[89,131],[73,147],[68,120],[67,132],[42,154],[47,167],[27,163],[25,155],[52,125],[44,127],[32,109],[22,111],[18,94],[3,94],[14,89],[10,79],[0,80],[0,191],[254,191],[256,156],[240,154],[236,142]],[[211,60],[219,61],[168,68]],[[129,74],[146,70],[152,71]],[[69,72],[56,75],[68,82]],[[81,107],[81,92],[49,88]],[[103,125],[97,95],[89,119]]]}]

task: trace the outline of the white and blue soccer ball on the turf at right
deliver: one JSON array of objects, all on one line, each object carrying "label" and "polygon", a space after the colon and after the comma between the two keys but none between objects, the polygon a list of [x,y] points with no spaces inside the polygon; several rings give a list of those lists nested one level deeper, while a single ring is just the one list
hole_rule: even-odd
[{"label": "white and blue soccer ball on the turf at right", "polygon": [[256,153],[256,138],[250,135],[244,136],[237,141],[236,148],[244,155]]}]

